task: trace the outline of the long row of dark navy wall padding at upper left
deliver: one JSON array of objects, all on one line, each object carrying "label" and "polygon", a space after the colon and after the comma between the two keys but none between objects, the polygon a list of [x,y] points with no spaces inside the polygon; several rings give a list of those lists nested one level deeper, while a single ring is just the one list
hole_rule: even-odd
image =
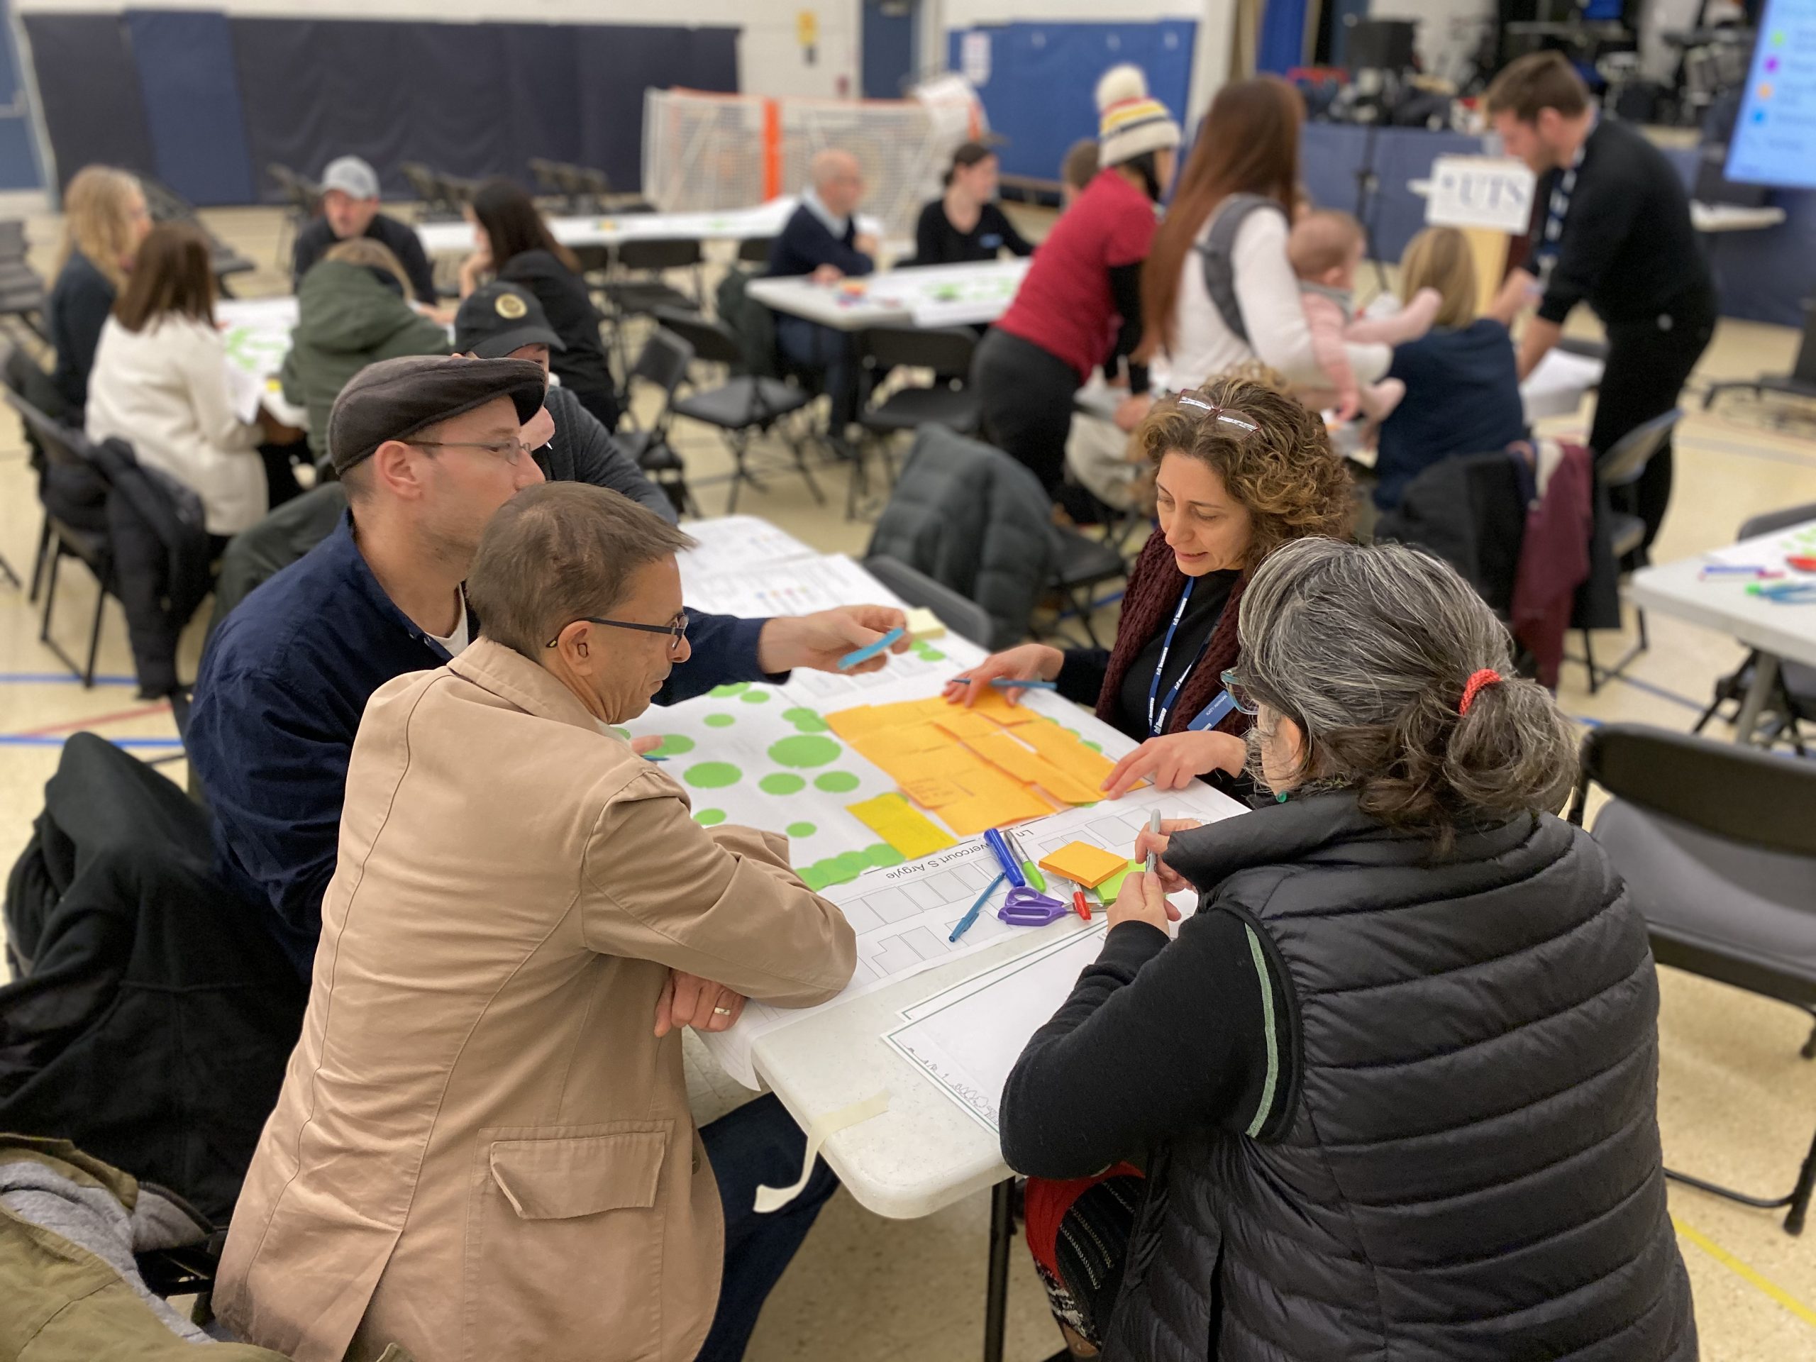
[{"label": "long row of dark navy wall padding at upper left", "polygon": [[93,162],[196,203],[276,200],[272,162],[372,162],[389,194],[423,162],[528,182],[528,160],[636,189],[646,85],[737,89],[737,29],[25,15],[58,183]]}]

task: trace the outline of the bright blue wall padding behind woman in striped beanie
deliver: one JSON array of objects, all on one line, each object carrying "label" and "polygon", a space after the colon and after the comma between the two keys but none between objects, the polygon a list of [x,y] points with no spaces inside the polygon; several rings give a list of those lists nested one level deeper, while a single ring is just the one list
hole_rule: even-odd
[{"label": "bright blue wall padding behind woman in striped beanie", "polygon": [[[1006,174],[1057,180],[1059,163],[1079,138],[1097,136],[1097,78],[1120,62],[1148,74],[1148,93],[1171,109],[1180,127],[1191,93],[1191,45],[1197,22],[1151,24],[993,24],[952,29],[948,56],[964,71],[966,33],[990,44],[990,76],[977,94],[990,131],[1006,138],[999,149]],[[1186,129],[1189,142],[1191,129]]]}]

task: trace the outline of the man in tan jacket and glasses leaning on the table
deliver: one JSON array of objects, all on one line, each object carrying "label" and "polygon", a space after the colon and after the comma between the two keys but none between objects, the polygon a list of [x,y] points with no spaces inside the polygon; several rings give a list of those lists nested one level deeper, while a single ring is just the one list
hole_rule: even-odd
[{"label": "man in tan jacket and glasses leaning on the table", "polygon": [[686,543],[616,492],[530,487],[467,576],[479,641],[372,696],[214,1295],[249,1340],[300,1362],[743,1355],[834,1184],[821,1166],[757,1217],[804,1139],[774,1097],[696,1131],[672,1022],[821,1002],[855,953],[783,837],[701,828],[610,728],[688,656]]}]

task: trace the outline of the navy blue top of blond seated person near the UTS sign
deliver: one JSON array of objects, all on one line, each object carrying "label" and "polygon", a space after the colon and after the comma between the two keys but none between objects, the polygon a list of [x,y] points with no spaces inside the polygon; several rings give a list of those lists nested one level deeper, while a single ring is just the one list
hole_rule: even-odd
[{"label": "navy blue top of blond seated person near the UTS sign", "polygon": [[1489,454],[1525,439],[1513,338],[1493,318],[1433,327],[1393,350],[1387,378],[1406,400],[1380,423],[1375,505],[1393,510],[1406,487],[1451,454]]}]

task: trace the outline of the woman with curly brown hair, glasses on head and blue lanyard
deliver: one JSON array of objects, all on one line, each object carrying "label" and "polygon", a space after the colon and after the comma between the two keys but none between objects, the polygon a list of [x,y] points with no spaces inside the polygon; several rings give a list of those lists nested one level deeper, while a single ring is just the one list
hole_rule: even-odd
[{"label": "woman with curly brown hair, glasses on head and blue lanyard", "polygon": [[[1249,717],[1219,679],[1237,659],[1237,603],[1275,548],[1349,528],[1349,474],[1324,421],[1244,378],[1160,401],[1135,432],[1155,469],[1160,525],[1130,574],[1113,648],[1024,643],[946,686],[970,703],[997,677],[1057,681],[1059,694],[1140,743],[1106,794],[1137,781],[1179,790],[1240,777]],[[1006,686],[1013,703],[1021,690]]]}]

